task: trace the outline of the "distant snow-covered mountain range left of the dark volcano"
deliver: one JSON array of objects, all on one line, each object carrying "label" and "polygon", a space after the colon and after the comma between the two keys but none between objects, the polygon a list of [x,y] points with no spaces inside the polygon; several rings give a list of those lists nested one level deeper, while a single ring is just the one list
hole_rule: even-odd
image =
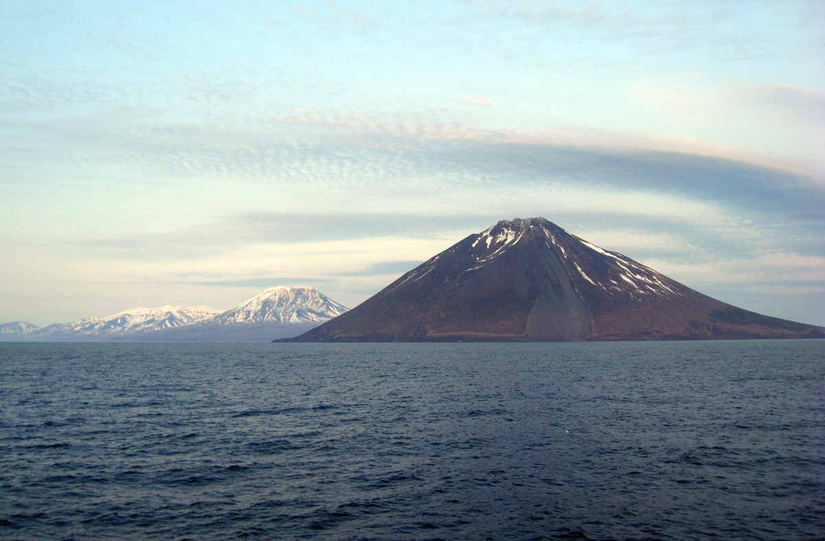
[{"label": "distant snow-covered mountain range left of the dark volcano", "polygon": [[268,342],[303,333],[346,311],[313,287],[279,286],[224,311],[167,305],[42,328],[17,321],[0,325],[0,341]]}]

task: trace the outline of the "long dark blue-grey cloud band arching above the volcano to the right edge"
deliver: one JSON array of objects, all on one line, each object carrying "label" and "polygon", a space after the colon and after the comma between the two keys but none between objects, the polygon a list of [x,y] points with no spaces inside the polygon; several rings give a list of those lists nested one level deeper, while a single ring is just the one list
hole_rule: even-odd
[{"label": "long dark blue-grey cloud band arching above the volcano to the right edge", "polygon": [[719,156],[518,142],[467,144],[446,154],[453,166],[512,184],[581,184],[675,194],[733,212],[825,224],[822,180]]}]

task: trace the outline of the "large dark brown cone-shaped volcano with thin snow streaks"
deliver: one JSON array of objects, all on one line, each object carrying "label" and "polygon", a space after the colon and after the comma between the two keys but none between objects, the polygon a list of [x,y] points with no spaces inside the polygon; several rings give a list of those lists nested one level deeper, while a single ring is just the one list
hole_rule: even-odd
[{"label": "large dark brown cone-shaped volcano with thin snow streaks", "polygon": [[825,338],[601,250],[544,218],[498,222],[292,342]]}]

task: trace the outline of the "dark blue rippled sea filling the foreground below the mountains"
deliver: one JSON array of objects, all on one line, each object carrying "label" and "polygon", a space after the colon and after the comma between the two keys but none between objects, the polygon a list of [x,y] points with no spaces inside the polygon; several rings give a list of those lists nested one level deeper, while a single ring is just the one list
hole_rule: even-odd
[{"label": "dark blue rippled sea filling the foreground below the mountains", "polygon": [[825,341],[2,343],[0,539],[825,539]]}]

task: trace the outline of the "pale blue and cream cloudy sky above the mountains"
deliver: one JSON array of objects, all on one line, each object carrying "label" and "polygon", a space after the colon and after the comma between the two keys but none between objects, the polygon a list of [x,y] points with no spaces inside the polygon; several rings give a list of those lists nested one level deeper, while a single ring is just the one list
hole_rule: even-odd
[{"label": "pale blue and cream cloudy sky above the mountains", "polygon": [[825,2],[0,9],[0,323],[351,307],[536,216],[825,325]]}]

